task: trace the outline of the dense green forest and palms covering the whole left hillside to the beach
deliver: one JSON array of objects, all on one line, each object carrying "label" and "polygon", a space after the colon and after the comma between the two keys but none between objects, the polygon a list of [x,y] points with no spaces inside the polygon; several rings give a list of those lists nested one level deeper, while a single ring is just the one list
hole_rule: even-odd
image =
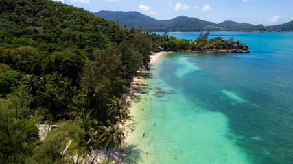
[{"label": "dense green forest and palms covering the whole left hillside to the beach", "polygon": [[[151,44],[82,8],[1,0],[0,163],[93,163],[94,150],[120,148],[132,128],[123,95]],[[40,141],[38,124],[58,126]]]}]

